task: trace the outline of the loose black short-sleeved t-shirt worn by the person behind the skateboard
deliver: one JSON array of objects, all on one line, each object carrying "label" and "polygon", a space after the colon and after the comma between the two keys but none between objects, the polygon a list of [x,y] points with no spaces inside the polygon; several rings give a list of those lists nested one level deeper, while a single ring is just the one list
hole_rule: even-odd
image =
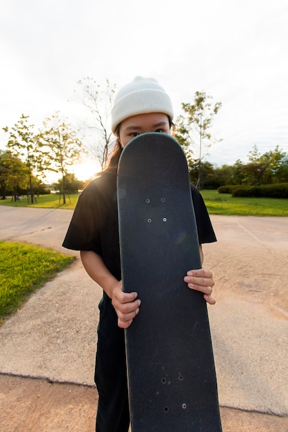
[{"label": "loose black short-sleeved t-shirt worn by the person behind the skateboard", "polygon": [[[199,244],[216,242],[203,198],[191,186]],[[101,255],[110,273],[121,279],[116,174],[103,173],[83,190],[63,246]]]}]

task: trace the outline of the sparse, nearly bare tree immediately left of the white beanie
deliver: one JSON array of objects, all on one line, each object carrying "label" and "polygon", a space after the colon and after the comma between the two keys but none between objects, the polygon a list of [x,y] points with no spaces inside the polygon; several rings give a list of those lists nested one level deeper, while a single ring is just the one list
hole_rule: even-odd
[{"label": "sparse, nearly bare tree immediately left of the white beanie", "polygon": [[81,101],[92,113],[92,119],[85,122],[83,128],[96,132],[96,144],[87,144],[86,147],[103,169],[114,141],[110,130],[110,112],[116,84],[110,84],[106,79],[103,87],[90,77],[81,79],[77,84],[82,87]]}]

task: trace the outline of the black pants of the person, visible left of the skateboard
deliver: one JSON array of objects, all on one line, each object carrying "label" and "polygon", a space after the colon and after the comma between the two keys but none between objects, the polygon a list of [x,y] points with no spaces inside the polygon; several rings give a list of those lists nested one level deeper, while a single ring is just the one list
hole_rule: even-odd
[{"label": "black pants of the person, visible left of the skateboard", "polygon": [[99,305],[95,384],[99,393],[96,432],[127,432],[130,425],[125,335],[110,299]]}]

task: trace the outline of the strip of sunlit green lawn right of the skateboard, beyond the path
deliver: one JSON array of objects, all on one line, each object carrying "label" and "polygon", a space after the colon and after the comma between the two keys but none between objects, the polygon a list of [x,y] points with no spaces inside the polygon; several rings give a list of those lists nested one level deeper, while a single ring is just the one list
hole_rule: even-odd
[{"label": "strip of sunlit green lawn right of the skateboard, beyond the path", "polygon": [[288,216],[288,199],[232,197],[217,190],[201,190],[210,215]]}]

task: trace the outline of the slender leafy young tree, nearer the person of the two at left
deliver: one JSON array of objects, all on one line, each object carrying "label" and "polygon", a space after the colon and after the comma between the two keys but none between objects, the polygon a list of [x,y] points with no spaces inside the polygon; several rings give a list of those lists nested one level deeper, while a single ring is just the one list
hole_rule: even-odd
[{"label": "slender leafy young tree, nearer the person of the two at left", "polygon": [[83,145],[67,119],[61,119],[59,112],[43,121],[43,128],[37,135],[41,148],[41,164],[44,170],[61,173],[63,185],[63,204],[65,199],[65,176],[70,166],[79,161]]}]

